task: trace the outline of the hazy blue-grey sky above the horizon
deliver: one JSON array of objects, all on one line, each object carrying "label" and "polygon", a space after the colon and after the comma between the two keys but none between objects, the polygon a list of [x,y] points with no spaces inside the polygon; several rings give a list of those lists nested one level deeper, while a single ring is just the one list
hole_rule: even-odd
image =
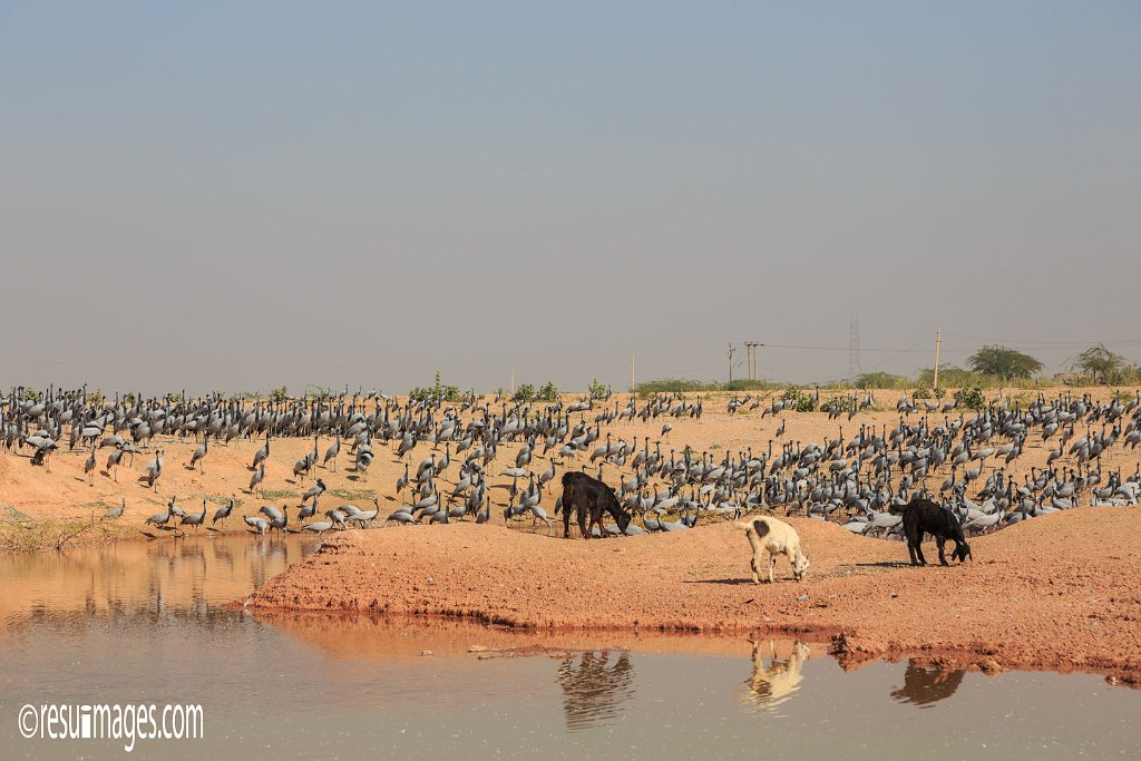
[{"label": "hazy blue-grey sky above the horizon", "polygon": [[2,387],[1141,359],[1138,2],[0,0],[0,92]]}]

